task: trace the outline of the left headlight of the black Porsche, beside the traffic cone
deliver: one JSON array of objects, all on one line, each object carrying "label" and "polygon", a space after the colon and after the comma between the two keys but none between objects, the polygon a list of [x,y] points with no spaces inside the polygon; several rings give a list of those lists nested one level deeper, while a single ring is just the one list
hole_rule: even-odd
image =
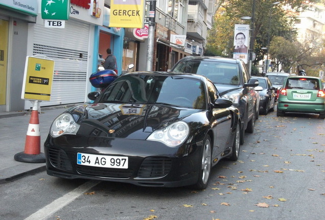
[{"label": "left headlight of the black Porsche, beside the traffic cone", "polygon": [[76,123],[74,117],[69,113],[59,115],[52,123],[50,134],[53,137],[62,134],[76,134],[80,125]]}]

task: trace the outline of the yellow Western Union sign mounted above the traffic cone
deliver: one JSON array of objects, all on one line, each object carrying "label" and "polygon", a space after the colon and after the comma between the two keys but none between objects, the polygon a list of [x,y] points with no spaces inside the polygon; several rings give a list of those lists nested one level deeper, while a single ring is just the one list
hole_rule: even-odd
[{"label": "yellow Western Union sign mounted above the traffic cone", "polygon": [[26,58],[21,99],[50,101],[54,60],[36,55]]}]

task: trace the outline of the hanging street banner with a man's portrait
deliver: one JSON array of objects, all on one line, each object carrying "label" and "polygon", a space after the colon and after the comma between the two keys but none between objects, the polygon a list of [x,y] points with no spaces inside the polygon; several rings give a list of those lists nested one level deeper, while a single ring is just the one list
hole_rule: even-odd
[{"label": "hanging street banner with a man's portrait", "polygon": [[249,48],[249,25],[235,24],[233,58],[241,59],[247,64],[248,50],[249,50],[248,48]]}]

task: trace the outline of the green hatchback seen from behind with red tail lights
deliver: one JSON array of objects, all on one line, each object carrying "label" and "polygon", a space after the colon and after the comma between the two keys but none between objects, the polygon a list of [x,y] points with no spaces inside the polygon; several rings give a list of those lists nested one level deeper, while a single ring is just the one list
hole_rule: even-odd
[{"label": "green hatchback seen from behind with red tail lights", "polygon": [[316,113],[325,118],[325,91],[321,80],[313,76],[289,76],[277,100],[276,116],[286,112]]}]

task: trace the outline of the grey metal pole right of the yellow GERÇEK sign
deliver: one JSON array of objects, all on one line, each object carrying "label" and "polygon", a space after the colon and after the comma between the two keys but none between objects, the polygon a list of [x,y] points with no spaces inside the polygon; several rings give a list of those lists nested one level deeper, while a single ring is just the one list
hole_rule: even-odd
[{"label": "grey metal pole right of the yellow GER\u00c7EK sign", "polygon": [[155,38],[155,18],[156,18],[156,0],[148,1],[150,2],[149,8],[149,33],[148,33],[148,48],[147,48],[147,71],[152,71],[153,63],[153,49],[154,49],[154,38]]}]

